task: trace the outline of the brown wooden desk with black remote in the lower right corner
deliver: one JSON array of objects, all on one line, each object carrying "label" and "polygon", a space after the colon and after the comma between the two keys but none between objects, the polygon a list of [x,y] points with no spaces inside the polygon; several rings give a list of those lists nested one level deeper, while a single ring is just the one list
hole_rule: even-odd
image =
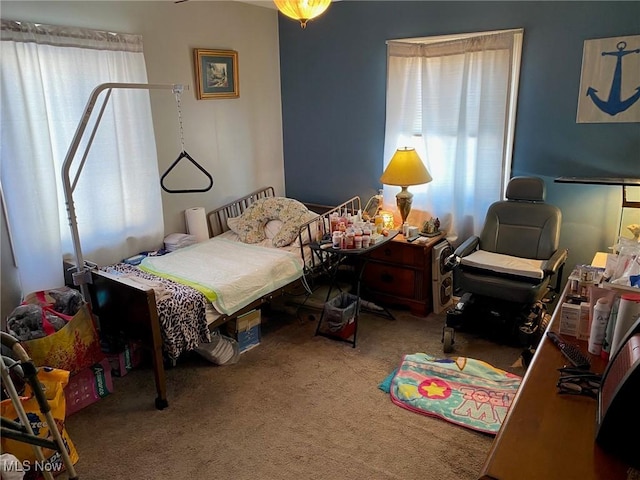
[{"label": "brown wooden desk with black remote in the lower right corner", "polygon": [[[562,298],[566,296],[567,288]],[[548,330],[558,331],[560,305]],[[587,353],[587,342],[566,337]],[[606,362],[588,354],[591,371],[602,373]],[[596,400],[560,395],[556,389],[565,362],[546,335],[527,369],[514,403],[493,441],[481,479],[497,480],[625,480],[627,466],[595,443]]]}]

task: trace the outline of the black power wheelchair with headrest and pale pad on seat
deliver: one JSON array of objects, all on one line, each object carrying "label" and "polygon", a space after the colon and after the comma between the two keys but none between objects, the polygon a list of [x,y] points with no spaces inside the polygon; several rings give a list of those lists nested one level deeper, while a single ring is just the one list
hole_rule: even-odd
[{"label": "black power wheelchair with headrest and pale pad on seat", "polygon": [[462,295],[447,311],[445,353],[452,351],[455,328],[467,320],[489,319],[494,330],[497,325],[506,330],[504,338],[520,344],[538,333],[544,304],[560,291],[568,256],[559,248],[562,213],[544,198],[541,178],[512,178],[506,200],[489,207],[480,236],[465,240],[447,259]]}]

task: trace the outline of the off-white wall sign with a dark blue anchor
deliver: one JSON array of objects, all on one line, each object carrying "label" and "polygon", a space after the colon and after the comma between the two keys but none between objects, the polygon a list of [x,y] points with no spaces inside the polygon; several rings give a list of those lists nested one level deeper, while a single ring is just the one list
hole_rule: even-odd
[{"label": "off-white wall sign with a dark blue anchor", "polygon": [[640,35],[585,40],[576,122],[640,122]]}]

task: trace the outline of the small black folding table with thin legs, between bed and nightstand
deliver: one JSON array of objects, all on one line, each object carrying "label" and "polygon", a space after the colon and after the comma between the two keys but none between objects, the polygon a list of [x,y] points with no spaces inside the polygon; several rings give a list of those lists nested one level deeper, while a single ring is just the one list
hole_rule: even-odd
[{"label": "small black folding table with thin legs, between bed and nightstand", "polygon": [[[355,316],[353,319],[353,334],[349,334],[349,335],[340,335],[340,334],[333,334],[329,331],[326,331],[323,328],[323,320],[324,320],[324,316],[325,316],[325,310],[324,308],[322,309],[322,313],[320,315],[320,320],[318,320],[318,325],[316,327],[316,335],[321,335],[323,337],[327,337],[327,338],[331,338],[333,340],[339,340],[342,342],[347,342],[350,343],[351,346],[353,348],[356,347],[356,337],[358,335],[358,317],[360,315],[360,283],[362,281],[362,272],[364,271],[364,266],[367,262],[367,259],[369,258],[369,253],[371,253],[372,251],[380,248],[381,246],[383,246],[384,244],[388,243],[389,241],[391,241],[393,238],[395,238],[395,236],[398,235],[398,231],[397,230],[391,230],[389,232],[389,234],[387,236],[383,236],[381,237],[375,244],[367,247],[367,248],[351,248],[351,249],[336,249],[331,247],[331,244],[325,244],[325,245],[320,245],[318,243],[311,243],[309,246],[311,247],[311,250],[313,250],[315,252],[315,254],[318,255],[333,255],[335,257],[337,257],[336,260],[336,264],[339,265],[340,263],[342,263],[342,260],[346,259],[347,257],[350,256],[357,256],[359,258],[362,259],[361,262],[357,262],[357,272],[356,272],[356,279],[355,279],[355,284],[356,284],[356,307],[355,307]],[[323,248],[326,245],[329,245],[328,248]],[[336,275],[338,273],[338,268],[334,268],[333,269],[333,273],[331,274],[331,281],[330,281],[330,285],[329,285],[329,290],[327,291],[327,296],[325,298],[325,304],[329,301],[329,298],[331,297],[331,292],[333,291],[333,288],[336,286]],[[391,317],[393,318],[393,317]]]}]

